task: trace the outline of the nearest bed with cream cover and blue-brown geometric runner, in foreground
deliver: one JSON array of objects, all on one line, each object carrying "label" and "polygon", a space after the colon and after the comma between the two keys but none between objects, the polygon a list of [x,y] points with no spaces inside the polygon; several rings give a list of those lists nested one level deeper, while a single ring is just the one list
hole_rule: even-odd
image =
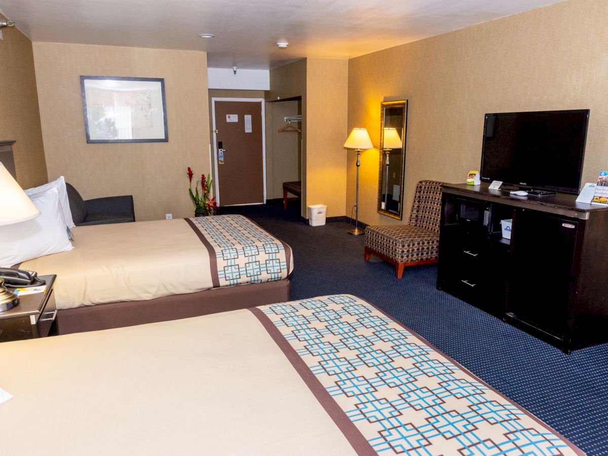
[{"label": "nearest bed with cream cover and blue-brown geometric runner, in foreground", "polygon": [[582,454],[351,295],[6,342],[0,365],[3,454]]}]

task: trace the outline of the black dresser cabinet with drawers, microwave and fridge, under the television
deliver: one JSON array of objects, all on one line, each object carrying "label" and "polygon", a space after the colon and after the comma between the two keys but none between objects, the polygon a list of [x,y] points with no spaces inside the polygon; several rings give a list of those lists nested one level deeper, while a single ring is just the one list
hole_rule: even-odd
[{"label": "black dresser cabinet with drawers, microwave and fridge, under the television", "polygon": [[608,342],[608,209],[575,199],[445,185],[437,288],[567,353]]}]

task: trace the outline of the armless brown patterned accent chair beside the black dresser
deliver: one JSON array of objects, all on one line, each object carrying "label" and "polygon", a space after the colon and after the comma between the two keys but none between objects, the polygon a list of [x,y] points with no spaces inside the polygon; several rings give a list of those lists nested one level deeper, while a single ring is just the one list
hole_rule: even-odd
[{"label": "armless brown patterned accent chair beside the black dresser", "polygon": [[397,278],[402,277],[406,266],[437,263],[442,184],[418,182],[407,225],[368,226],[365,261],[376,255],[394,264]]}]

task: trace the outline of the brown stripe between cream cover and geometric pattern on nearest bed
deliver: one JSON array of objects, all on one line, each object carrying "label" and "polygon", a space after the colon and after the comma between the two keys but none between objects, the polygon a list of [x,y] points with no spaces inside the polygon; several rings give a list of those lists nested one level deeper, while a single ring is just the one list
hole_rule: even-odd
[{"label": "brown stripe between cream cover and geometric pattern on nearest bed", "polygon": [[308,386],[317,398],[317,401],[319,401],[319,404],[321,404],[323,409],[325,409],[325,412],[330,415],[331,419],[336,423],[336,426],[342,431],[342,434],[344,434],[344,437],[348,440],[348,443],[351,444],[354,451],[359,455],[376,454],[370,443],[365,440],[365,437],[361,434],[361,431],[352,421],[350,421],[350,418],[344,413],[344,410],[340,408],[321,382],[317,380],[306,363],[300,358],[299,354],[296,353],[291,344],[285,340],[285,337],[283,337],[283,334],[280,333],[274,323],[272,323],[271,320],[264,315],[263,311],[257,307],[250,308],[249,311],[260,320],[260,323],[266,328],[266,331],[268,331],[272,340],[274,340],[278,347],[283,351],[283,354],[285,354],[286,358],[291,362],[295,371],[299,373],[306,386]]}]

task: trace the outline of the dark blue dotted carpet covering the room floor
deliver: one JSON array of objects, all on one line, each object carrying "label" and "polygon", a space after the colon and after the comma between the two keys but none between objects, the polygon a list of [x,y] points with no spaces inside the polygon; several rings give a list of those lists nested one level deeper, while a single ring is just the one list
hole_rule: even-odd
[{"label": "dark blue dotted carpet covering the room floor", "polygon": [[[608,455],[608,344],[569,356],[435,288],[437,266],[406,268],[363,259],[350,225],[299,223],[297,207],[241,207],[294,251],[291,298],[350,293],[409,326],[472,373],[590,455]],[[294,202],[297,204],[298,202]],[[223,210],[221,213],[227,213]],[[607,328],[608,331],[608,328]]]}]

